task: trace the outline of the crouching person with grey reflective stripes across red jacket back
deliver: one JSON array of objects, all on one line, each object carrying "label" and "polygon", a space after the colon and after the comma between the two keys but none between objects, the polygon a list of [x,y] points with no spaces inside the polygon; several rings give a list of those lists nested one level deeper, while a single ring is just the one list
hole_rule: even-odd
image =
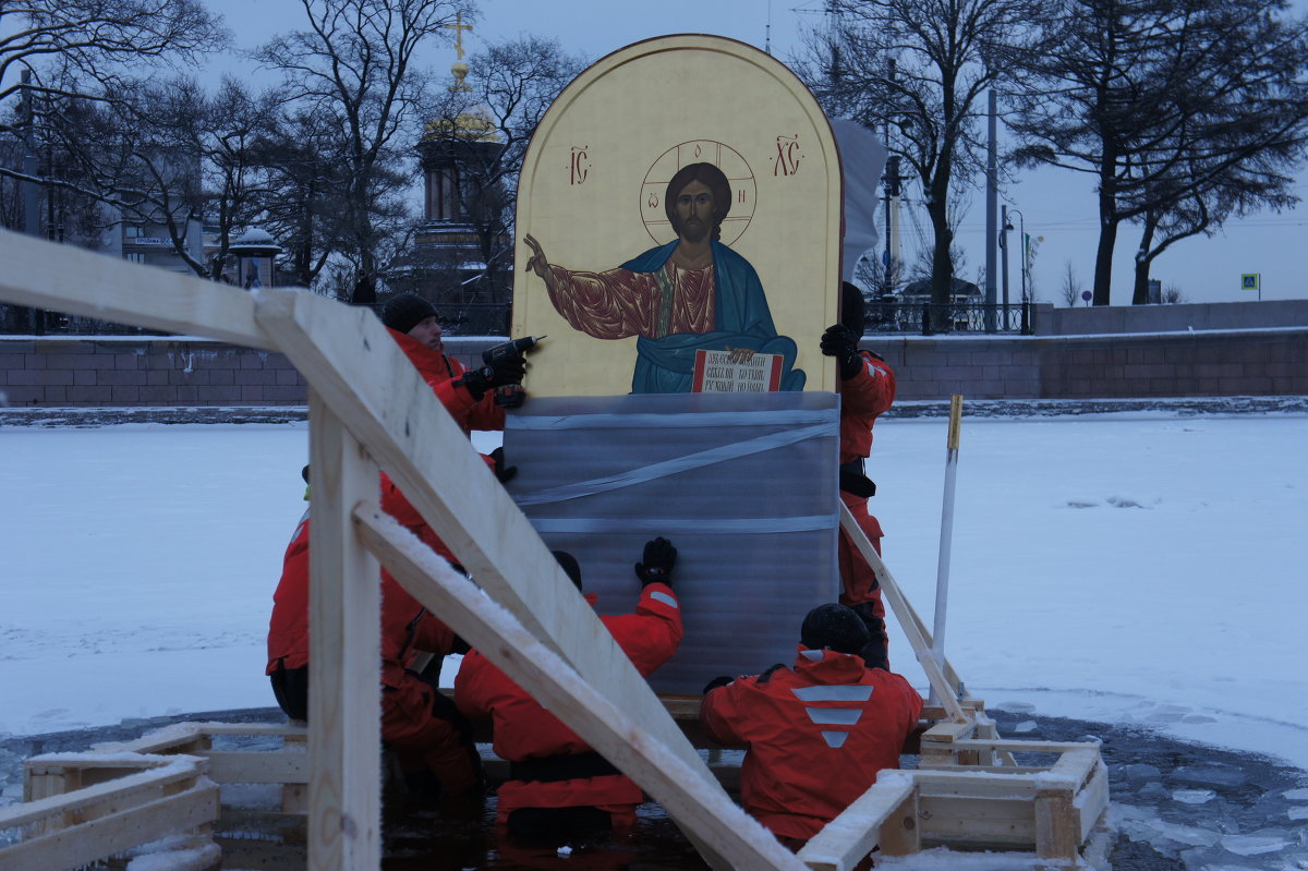
[{"label": "crouching person with grey reflective stripes across red jacket back", "polygon": [[[818,606],[799,630],[794,668],[705,687],[700,721],[710,740],[747,748],[740,764],[744,810],[798,849],[876,782],[899,768],[922,697],[900,675],[869,668],[884,645],[854,611]],[[865,650],[866,646],[874,649]]]}]

